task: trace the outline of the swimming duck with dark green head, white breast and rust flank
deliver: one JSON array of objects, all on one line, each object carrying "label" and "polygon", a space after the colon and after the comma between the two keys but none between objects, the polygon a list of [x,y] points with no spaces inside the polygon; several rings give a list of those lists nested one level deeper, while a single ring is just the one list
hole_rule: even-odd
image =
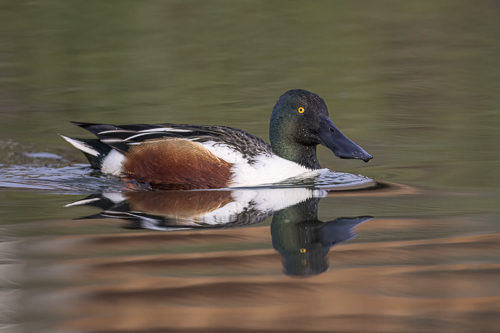
[{"label": "swimming duck with dark green head, white breast and rust flank", "polygon": [[279,97],[269,125],[271,144],[227,126],[73,124],[97,137],[61,135],[92,168],[157,190],[252,187],[311,176],[321,170],[320,144],[339,158],[372,159],[334,125],[325,101],[304,89]]}]

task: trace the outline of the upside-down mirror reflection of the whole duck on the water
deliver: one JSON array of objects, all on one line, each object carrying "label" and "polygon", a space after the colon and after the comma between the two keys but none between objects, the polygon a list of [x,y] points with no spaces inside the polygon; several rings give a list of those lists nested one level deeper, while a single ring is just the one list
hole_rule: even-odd
[{"label": "upside-down mirror reflection of the whole duck on the water", "polygon": [[127,228],[179,230],[231,228],[271,223],[273,247],[288,275],[315,275],[328,268],[330,247],[354,236],[352,229],[372,217],[318,220],[323,190],[308,188],[224,191],[143,191],[91,195],[69,204],[91,205],[102,212],[86,218],[119,218]]}]

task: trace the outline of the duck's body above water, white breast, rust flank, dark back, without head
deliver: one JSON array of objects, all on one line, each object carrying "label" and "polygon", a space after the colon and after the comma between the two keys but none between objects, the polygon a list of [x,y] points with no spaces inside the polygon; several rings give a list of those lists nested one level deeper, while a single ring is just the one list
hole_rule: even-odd
[{"label": "duck's body above water, white breast, rust flank, dark back, without head", "polygon": [[[82,150],[94,168],[158,189],[253,186],[312,171],[273,154],[258,137],[230,127],[76,125],[98,139],[64,138]],[[109,146],[108,152],[99,144]]]}]

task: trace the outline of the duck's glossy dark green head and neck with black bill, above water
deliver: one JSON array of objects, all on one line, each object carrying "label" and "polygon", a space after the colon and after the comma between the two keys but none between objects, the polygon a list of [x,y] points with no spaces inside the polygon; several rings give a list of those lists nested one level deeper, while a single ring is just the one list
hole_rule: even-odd
[{"label": "duck's glossy dark green head and neck with black bill, above water", "polygon": [[269,135],[276,155],[312,169],[321,168],[316,157],[318,144],[340,158],[365,162],[372,158],[333,124],[325,101],[303,89],[281,95],[271,115]]}]

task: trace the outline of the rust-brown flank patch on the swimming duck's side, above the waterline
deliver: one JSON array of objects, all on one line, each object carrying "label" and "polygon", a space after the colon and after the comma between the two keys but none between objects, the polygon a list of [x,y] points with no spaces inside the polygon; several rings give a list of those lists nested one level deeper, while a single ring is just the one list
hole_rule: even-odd
[{"label": "rust-brown flank patch on the swimming duck's side, above the waterline", "polygon": [[201,144],[183,139],[144,141],[130,148],[123,164],[126,175],[161,190],[227,187],[232,166]]}]

